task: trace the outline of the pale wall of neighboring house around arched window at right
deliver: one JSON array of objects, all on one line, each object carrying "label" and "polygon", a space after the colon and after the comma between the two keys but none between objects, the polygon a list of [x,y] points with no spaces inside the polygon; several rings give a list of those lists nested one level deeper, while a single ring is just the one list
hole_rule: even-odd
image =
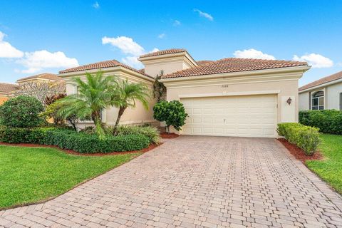
[{"label": "pale wall of neighboring house around arched window at right", "polygon": [[328,86],[321,86],[312,90],[306,90],[299,93],[299,110],[309,110],[309,93],[311,95],[316,91],[324,92],[324,109],[340,109],[340,93],[342,93],[342,82],[334,83]]}]

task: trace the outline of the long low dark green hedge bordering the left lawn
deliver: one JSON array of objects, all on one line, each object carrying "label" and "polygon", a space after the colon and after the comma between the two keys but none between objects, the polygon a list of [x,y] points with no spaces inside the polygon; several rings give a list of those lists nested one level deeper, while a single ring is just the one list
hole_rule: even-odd
[{"label": "long low dark green hedge bordering the left lawn", "polygon": [[75,150],[81,153],[142,150],[150,145],[150,139],[141,134],[107,135],[104,140],[100,140],[97,135],[58,128],[1,127],[0,141],[56,145],[62,149]]}]

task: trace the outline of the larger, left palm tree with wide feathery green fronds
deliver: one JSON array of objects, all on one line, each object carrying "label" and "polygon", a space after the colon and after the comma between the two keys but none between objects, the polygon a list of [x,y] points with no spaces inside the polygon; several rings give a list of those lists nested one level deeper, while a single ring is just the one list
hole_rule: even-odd
[{"label": "larger, left palm tree with wide feathery green fronds", "polygon": [[113,106],[113,94],[118,88],[118,80],[114,76],[103,77],[102,72],[95,75],[86,73],[86,81],[81,78],[73,78],[78,88],[78,93],[68,95],[58,100],[62,108],[58,111],[61,116],[69,116],[76,113],[79,119],[91,118],[95,124],[96,133],[103,138],[105,132],[101,120],[101,110]]}]

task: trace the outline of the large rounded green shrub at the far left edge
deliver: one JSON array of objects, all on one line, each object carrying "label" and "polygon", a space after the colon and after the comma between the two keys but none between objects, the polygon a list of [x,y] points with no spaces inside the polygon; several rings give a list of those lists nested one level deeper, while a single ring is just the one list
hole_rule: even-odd
[{"label": "large rounded green shrub at the far left edge", "polygon": [[1,124],[13,128],[36,127],[42,122],[39,113],[43,110],[43,105],[36,98],[20,95],[0,106]]}]

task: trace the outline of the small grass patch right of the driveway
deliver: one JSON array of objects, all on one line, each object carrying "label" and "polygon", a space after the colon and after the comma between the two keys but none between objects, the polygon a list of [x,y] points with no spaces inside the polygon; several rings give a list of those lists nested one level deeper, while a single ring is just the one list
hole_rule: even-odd
[{"label": "small grass patch right of the driveway", "polygon": [[319,150],[325,159],[306,161],[306,165],[342,194],[342,135],[324,134],[321,139]]}]

